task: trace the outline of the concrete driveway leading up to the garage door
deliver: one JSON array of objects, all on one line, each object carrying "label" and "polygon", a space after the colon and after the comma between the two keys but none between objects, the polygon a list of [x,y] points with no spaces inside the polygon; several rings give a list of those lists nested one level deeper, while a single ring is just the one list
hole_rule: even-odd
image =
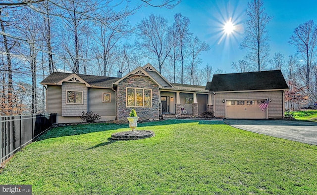
[{"label": "concrete driveway leading up to the garage door", "polygon": [[245,119],[224,119],[224,122],[246,131],[317,145],[317,122]]}]

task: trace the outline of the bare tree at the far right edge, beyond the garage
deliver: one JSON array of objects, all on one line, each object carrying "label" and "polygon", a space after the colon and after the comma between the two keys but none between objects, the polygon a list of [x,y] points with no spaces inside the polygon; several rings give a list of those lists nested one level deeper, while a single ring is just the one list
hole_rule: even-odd
[{"label": "bare tree at the far right edge, beyond the garage", "polygon": [[297,52],[302,55],[306,63],[302,74],[305,74],[304,82],[309,89],[312,62],[317,52],[317,25],[313,20],[300,24],[294,29],[293,35],[288,42],[296,46]]}]

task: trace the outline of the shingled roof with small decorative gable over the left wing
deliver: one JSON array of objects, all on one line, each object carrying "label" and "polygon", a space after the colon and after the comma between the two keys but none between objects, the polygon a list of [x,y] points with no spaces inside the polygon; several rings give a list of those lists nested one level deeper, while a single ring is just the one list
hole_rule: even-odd
[{"label": "shingled roof with small decorative gable over the left wing", "polygon": [[85,83],[86,86],[100,87],[100,88],[112,88],[112,83],[120,79],[120,78],[114,78],[114,77],[103,77],[103,76],[81,75],[81,74],[77,75],[72,73],[54,72],[40,83],[47,84],[47,85],[61,85],[63,81],[67,81],[68,78],[71,79],[73,77],[78,79],[77,82]]}]

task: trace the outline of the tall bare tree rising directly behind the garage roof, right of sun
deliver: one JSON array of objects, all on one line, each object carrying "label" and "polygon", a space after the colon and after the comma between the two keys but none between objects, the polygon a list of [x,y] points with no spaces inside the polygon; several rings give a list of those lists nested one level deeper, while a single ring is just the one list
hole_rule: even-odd
[{"label": "tall bare tree rising directly behind the garage roof, right of sun", "polygon": [[245,15],[248,16],[247,27],[244,30],[245,38],[240,44],[240,48],[248,49],[246,59],[254,62],[258,71],[261,71],[264,69],[266,58],[269,55],[269,36],[266,25],[272,17],[265,12],[263,0],[248,2]]}]

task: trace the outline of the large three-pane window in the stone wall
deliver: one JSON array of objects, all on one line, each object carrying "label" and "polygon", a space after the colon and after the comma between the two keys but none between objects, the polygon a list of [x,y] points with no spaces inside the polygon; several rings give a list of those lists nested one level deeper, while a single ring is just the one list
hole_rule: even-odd
[{"label": "large three-pane window in the stone wall", "polygon": [[127,107],[152,107],[152,90],[127,88]]}]

